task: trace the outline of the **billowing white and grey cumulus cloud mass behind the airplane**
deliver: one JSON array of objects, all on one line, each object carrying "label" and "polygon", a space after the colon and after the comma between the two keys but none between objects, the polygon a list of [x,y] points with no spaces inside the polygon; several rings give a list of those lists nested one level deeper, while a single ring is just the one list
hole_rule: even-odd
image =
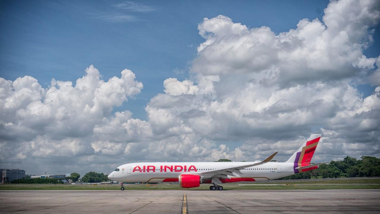
[{"label": "billowing white and grey cumulus cloud mass behind the airplane", "polygon": [[[0,78],[0,160],[36,170],[63,160],[80,169],[81,161],[105,171],[135,161],[253,161],[275,151],[286,161],[313,133],[323,136],[313,161],[378,157],[380,63],[363,51],[374,42],[379,5],[331,1],[322,20],[280,34],[204,18],[189,80],[167,78],[146,121],[112,113],[142,89],[128,69],[104,81],[91,65],[76,84],[53,79],[47,88],[29,76]],[[375,90],[364,97],[357,83]]]}]

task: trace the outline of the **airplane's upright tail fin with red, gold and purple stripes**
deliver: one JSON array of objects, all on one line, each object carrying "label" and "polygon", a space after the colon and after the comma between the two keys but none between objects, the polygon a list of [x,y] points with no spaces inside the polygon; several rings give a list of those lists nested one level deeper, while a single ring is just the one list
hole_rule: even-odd
[{"label": "airplane's upright tail fin with red, gold and purple stripes", "polygon": [[313,157],[315,149],[317,149],[317,145],[319,139],[321,138],[321,134],[312,134],[304,144],[289,158],[287,163],[294,163],[294,173],[305,172],[312,169],[317,169],[318,166],[314,166],[307,169],[296,169],[302,166],[308,166]]}]

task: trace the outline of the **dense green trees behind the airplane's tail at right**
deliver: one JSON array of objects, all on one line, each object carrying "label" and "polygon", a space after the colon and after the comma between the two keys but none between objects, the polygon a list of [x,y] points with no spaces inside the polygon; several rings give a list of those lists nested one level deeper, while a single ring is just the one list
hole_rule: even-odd
[{"label": "dense green trees behind the airplane's tail at right", "polygon": [[362,156],[360,159],[356,160],[356,158],[347,156],[341,161],[331,161],[330,164],[320,165],[318,169],[283,177],[279,180],[380,176],[380,158]]}]

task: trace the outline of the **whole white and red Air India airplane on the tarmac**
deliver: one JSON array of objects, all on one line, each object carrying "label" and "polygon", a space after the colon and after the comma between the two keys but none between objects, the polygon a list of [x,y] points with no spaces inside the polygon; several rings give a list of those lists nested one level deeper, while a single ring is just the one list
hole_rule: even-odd
[{"label": "whole white and red Air India airplane on the tarmac", "polygon": [[[270,162],[277,154],[254,162],[145,162],[128,163],[116,168],[108,179],[120,182],[179,182],[193,188],[212,184],[210,190],[223,190],[220,184],[272,180],[317,169],[310,164],[321,134],[312,134],[286,162]],[[123,184],[120,188],[124,190]]]}]

